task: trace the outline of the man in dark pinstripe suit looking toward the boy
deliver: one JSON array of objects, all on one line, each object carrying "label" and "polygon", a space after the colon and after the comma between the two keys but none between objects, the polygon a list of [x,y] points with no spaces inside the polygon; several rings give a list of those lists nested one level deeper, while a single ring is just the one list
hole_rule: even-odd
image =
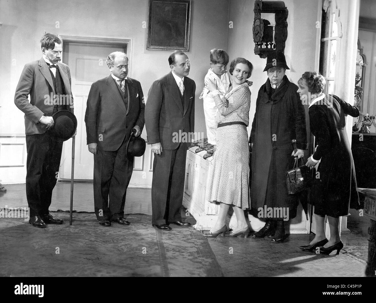
[{"label": "man in dark pinstripe suit looking toward the boy", "polygon": [[[194,131],[196,84],[188,74],[188,56],[179,50],[168,58],[171,72],[154,81],[145,105],[147,144],[155,154],[152,181],[152,225],[171,230],[168,224],[188,227],[182,222],[185,157],[190,143],[173,140],[176,134]],[[182,136],[183,137],[183,136]],[[181,139],[181,138],[180,138]],[[178,142],[176,142],[178,141]]]}]

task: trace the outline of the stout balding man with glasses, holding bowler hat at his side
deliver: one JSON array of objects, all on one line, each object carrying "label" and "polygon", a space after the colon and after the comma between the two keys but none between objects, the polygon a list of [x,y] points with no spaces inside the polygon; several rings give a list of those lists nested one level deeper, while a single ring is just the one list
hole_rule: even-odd
[{"label": "stout balding man with glasses, holding bowler hat at his side", "polygon": [[106,64],[111,75],[91,85],[85,113],[86,140],[94,154],[94,211],[102,226],[129,225],[123,216],[134,158],[126,148],[131,130],[139,136],[144,128],[144,94],[140,82],[127,77],[125,53],[109,54]]}]

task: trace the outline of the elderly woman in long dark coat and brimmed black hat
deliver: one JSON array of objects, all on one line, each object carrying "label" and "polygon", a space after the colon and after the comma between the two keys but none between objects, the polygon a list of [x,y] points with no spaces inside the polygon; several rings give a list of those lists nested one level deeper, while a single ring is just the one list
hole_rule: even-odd
[{"label": "elderly woman in long dark coat and brimmed black hat", "polygon": [[[294,165],[294,157],[301,158],[307,149],[305,110],[297,94],[297,86],[285,75],[284,54],[268,55],[268,79],[260,88],[256,100],[256,113],[252,123],[252,212],[267,218],[265,226],[253,238],[274,236],[273,243],[285,239],[285,221],[296,216],[298,199],[287,193],[285,171]],[[291,140],[297,141],[294,152]],[[292,151],[292,153],[291,153]],[[292,157],[294,156],[294,157]],[[264,206],[273,210],[273,216],[260,216]],[[283,215],[287,215],[285,218]]]}]

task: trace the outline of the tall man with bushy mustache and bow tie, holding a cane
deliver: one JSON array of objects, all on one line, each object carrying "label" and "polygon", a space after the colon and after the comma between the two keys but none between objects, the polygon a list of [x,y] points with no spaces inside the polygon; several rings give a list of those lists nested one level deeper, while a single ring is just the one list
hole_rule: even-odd
[{"label": "tall man with bushy mustache and bow tie, holding a cane", "polygon": [[[73,113],[70,70],[68,65],[59,62],[63,50],[61,40],[45,33],[41,50],[41,59],[25,65],[14,96],[15,105],[25,114],[26,197],[30,208],[29,223],[35,227],[63,223],[49,213],[63,142],[53,140],[48,130],[54,124],[53,114],[61,110]],[[69,105],[49,99],[49,96],[59,96],[62,100],[65,99],[61,98],[63,95],[70,97]]]}]

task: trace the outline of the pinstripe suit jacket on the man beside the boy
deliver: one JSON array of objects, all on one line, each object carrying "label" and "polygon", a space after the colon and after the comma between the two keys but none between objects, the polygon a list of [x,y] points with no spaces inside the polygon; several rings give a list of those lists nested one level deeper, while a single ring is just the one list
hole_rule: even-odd
[{"label": "pinstripe suit jacket on the man beside the boy", "polygon": [[[184,106],[172,73],[153,82],[145,106],[147,144],[161,142],[162,149],[176,149],[173,133],[194,132],[194,94],[196,84],[184,77]],[[163,152],[163,151],[162,151]]]}]

